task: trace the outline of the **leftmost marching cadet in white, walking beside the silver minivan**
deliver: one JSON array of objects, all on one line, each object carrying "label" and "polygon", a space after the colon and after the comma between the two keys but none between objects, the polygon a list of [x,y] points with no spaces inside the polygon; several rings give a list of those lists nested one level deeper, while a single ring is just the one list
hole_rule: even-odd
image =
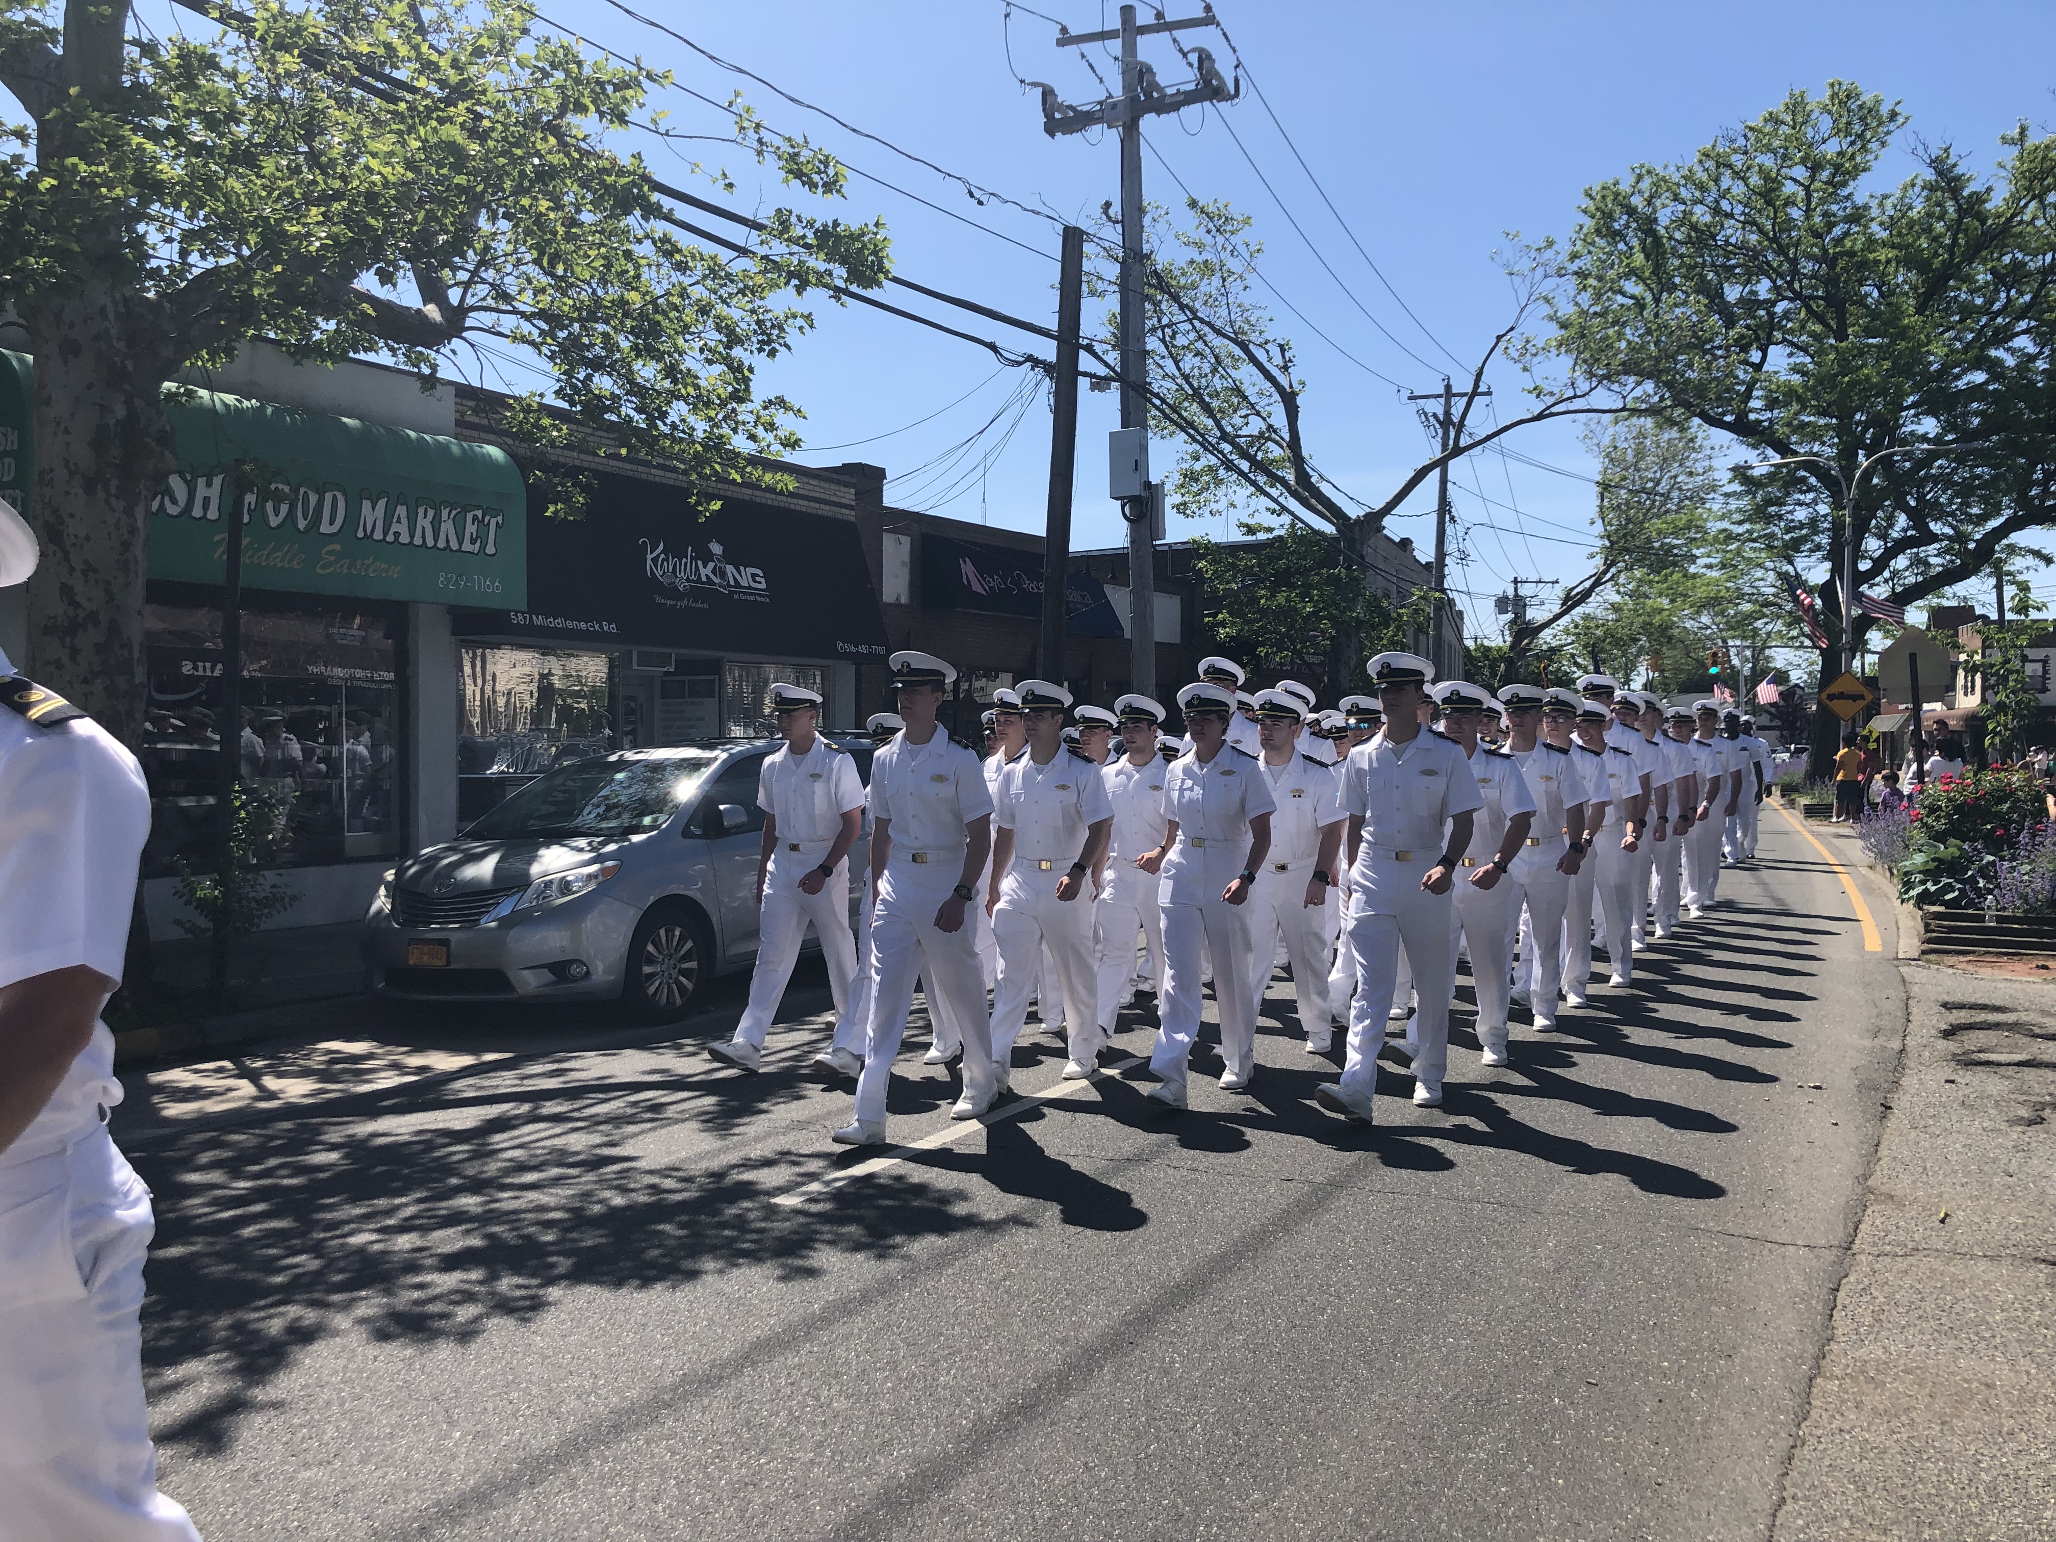
[{"label": "leftmost marching cadet in white, walking beside the silver minivan", "polygon": [[757,806],[765,810],[757,853],[757,968],[750,1001],[734,1040],[707,1055],[744,1071],[763,1065],[765,1032],[785,997],[808,923],[820,938],[835,993],[835,1040],[814,1067],[837,1075],[864,1069],[864,1024],[853,1012],[857,944],[849,935],[849,866],[845,857],[864,833],[864,781],[847,750],[814,732],[820,693],[798,685],[771,687],[771,715],[785,744],[757,773]]}]

